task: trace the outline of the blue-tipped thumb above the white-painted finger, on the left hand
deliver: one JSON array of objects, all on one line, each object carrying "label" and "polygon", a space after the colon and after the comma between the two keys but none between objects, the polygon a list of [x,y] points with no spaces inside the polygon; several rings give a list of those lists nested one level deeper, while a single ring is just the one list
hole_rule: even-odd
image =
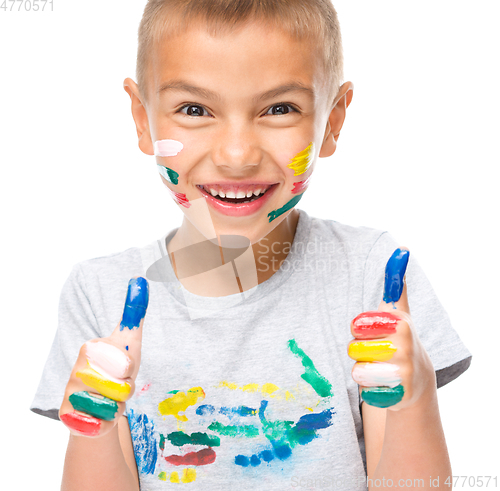
[{"label": "blue-tipped thumb above the white-painted finger, on the left hand", "polygon": [[149,303],[149,284],[145,278],[135,277],[128,282],[122,320],[109,337],[113,343],[128,351],[139,361],[142,326]]}]

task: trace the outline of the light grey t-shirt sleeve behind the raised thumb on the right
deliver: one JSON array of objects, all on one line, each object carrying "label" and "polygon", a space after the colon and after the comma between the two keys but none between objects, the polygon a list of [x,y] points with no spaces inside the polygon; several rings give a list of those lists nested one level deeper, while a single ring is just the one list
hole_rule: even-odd
[{"label": "light grey t-shirt sleeve behind the raised thumb on the right", "polygon": [[[384,289],[385,265],[398,247],[400,244],[384,232],[371,248],[364,273],[365,311],[377,309]],[[442,387],[469,368],[471,353],[453,329],[448,314],[411,251],[406,286],[415,328],[434,365],[437,386]]]}]

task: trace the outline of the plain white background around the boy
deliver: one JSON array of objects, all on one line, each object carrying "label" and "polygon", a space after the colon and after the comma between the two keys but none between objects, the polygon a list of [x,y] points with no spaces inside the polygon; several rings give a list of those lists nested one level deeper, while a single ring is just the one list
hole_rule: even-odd
[{"label": "plain white background around the boy", "polygon": [[[0,9],[2,463],[16,489],[60,485],[68,432],[28,408],[72,266],[180,224],[122,89],[144,4]],[[335,5],[354,99],[299,208],[387,229],[418,257],[474,355],[439,390],[453,473],[498,474],[499,4]]]}]

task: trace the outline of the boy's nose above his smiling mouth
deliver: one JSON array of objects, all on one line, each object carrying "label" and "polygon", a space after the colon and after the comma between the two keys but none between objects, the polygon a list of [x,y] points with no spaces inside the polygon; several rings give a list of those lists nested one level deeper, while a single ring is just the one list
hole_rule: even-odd
[{"label": "boy's nose above his smiling mouth", "polygon": [[212,161],[222,171],[248,173],[261,160],[259,139],[249,123],[233,121],[222,126],[214,136]]}]

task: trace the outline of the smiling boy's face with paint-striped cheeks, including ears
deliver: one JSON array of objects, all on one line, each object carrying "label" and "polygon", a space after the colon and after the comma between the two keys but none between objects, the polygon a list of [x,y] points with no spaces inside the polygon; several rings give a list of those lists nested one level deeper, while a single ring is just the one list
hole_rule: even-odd
[{"label": "smiling boy's face with paint-striped cheeks, including ears", "polygon": [[192,26],[152,54],[147,102],[125,81],[139,146],[195,225],[207,219],[196,205],[208,205],[217,235],[261,240],[298,203],[317,157],[334,152],[345,98],[343,112],[327,107],[314,52],[262,23],[219,37]]}]

